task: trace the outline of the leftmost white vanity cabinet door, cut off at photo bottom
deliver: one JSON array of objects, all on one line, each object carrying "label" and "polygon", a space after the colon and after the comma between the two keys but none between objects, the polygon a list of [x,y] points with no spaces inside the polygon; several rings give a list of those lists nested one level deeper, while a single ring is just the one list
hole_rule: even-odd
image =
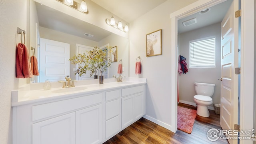
[{"label": "leftmost white vanity cabinet door, cut off at photo bottom", "polygon": [[75,144],[75,113],[32,124],[33,144]]}]

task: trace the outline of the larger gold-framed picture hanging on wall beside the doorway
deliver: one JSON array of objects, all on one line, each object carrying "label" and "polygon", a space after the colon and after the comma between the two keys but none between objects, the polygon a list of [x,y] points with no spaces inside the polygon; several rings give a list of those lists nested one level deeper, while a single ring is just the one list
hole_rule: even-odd
[{"label": "larger gold-framed picture hanging on wall beside the doorway", "polygon": [[146,34],[146,56],[162,54],[162,29]]}]

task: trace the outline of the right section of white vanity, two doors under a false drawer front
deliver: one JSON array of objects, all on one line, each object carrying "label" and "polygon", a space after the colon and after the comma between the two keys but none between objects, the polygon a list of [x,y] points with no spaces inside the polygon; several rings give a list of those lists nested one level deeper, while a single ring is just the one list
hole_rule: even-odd
[{"label": "right section of white vanity, two doors under a false drawer front", "polygon": [[143,85],[122,89],[122,128],[126,128],[145,114],[145,102]]}]

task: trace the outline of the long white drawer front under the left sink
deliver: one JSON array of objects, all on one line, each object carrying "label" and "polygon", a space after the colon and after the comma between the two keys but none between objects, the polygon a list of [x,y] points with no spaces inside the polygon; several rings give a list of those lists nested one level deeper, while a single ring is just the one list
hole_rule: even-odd
[{"label": "long white drawer front under the left sink", "polygon": [[32,121],[102,102],[102,93],[32,106]]}]

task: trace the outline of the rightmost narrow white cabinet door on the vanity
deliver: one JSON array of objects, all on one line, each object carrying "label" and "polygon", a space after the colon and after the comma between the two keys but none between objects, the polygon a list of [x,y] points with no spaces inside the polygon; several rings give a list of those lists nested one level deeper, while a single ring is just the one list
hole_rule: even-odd
[{"label": "rightmost narrow white cabinet door on the vanity", "polygon": [[134,95],[134,119],[139,119],[144,115],[143,93]]}]

